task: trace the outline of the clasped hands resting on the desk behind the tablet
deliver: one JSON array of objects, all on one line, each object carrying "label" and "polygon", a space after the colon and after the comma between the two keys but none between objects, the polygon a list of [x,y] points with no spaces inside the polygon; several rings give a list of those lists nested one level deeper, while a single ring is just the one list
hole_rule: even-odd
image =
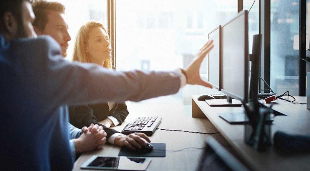
[{"label": "clasped hands resting on the desk behind the tablet", "polygon": [[82,132],[78,139],[73,139],[76,153],[101,149],[101,145],[105,144],[107,140],[107,133],[103,130],[103,127],[97,124],[91,124],[88,128],[83,127]]}]

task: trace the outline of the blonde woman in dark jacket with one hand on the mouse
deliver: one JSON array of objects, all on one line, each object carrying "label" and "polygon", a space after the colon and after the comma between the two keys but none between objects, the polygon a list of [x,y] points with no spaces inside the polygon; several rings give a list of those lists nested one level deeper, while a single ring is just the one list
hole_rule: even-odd
[{"label": "blonde woman in dark jacket with one hand on the mouse", "polygon": [[[103,67],[112,69],[110,39],[104,26],[97,21],[89,21],[82,25],[75,39],[73,61],[97,63]],[[81,128],[91,123],[99,124],[101,121],[107,140],[118,146],[128,146],[131,149],[141,148],[139,143],[150,142],[142,133],[134,133],[128,136],[109,127],[122,124],[128,115],[125,102],[106,102],[100,104],[88,104],[71,106],[69,108],[70,123]],[[145,140],[146,141],[145,141]]]}]

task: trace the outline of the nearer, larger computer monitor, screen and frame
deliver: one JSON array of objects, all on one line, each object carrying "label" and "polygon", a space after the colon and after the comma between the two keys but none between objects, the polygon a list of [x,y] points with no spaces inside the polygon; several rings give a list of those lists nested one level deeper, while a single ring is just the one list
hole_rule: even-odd
[{"label": "nearer, larger computer monitor, screen and frame", "polygon": [[248,12],[244,10],[222,25],[222,87],[227,102],[248,101]]}]

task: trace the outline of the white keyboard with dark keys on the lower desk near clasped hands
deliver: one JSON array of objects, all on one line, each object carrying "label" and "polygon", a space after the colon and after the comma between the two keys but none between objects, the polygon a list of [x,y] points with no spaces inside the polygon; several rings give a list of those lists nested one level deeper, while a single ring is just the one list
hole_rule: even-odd
[{"label": "white keyboard with dark keys on the lower desk near clasped hands", "polygon": [[162,118],[157,116],[138,117],[127,124],[121,133],[128,135],[135,132],[141,132],[147,136],[151,136],[161,121]]}]

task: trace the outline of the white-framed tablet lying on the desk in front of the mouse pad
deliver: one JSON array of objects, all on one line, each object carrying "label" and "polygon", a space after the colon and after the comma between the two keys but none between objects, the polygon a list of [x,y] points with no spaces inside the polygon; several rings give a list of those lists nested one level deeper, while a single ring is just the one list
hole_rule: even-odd
[{"label": "white-framed tablet lying on the desk in front of the mouse pad", "polygon": [[81,169],[144,171],[151,159],[145,157],[108,157],[94,155],[81,165]]}]

